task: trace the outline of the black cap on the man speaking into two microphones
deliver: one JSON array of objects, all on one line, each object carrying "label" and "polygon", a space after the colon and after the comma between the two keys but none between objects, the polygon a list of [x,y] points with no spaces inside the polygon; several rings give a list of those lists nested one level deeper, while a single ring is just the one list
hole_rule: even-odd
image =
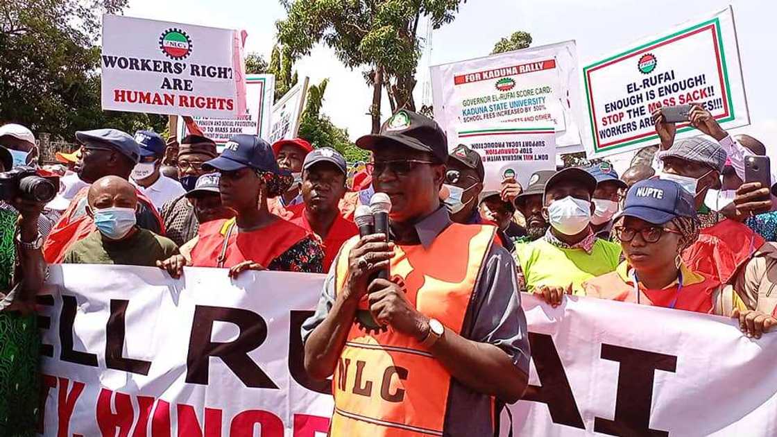
[{"label": "black cap on the man speaking into two microphones", "polygon": [[448,163],[448,138],[434,120],[412,110],[399,110],[381,126],[379,134],[356,140],[360,149],[375,151],[386,145],[428,152],[441,164]]}]

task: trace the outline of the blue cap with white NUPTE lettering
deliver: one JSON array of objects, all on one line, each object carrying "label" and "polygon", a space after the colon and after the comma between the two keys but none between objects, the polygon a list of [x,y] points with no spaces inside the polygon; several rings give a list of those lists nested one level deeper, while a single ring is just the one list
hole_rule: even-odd
[{"label": "blue cap with white NUPTE lettering", "polygon": [[693,196],[672,180],[653,178],[632,185],[618,218],[636,217],[662,225],[678,216],[696,216]]}]

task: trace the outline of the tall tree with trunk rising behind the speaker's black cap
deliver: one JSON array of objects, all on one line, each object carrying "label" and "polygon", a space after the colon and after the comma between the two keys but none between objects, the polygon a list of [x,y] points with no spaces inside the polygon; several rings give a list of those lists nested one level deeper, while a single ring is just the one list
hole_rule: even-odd
[{"label": "tall tree with trunk rising behind the speaker's black cap", "polygon": [[466,0],[281,0],[287,18],[277,23],[278,39],[291,56],[309,54],[315,44],[331,47],[349,68],[363,68],[373,88],[372,131],[381,121],[383,89],[392,110],[416,110],[413,89],[422,38],[418,25],[434,29],[451,23]]}]

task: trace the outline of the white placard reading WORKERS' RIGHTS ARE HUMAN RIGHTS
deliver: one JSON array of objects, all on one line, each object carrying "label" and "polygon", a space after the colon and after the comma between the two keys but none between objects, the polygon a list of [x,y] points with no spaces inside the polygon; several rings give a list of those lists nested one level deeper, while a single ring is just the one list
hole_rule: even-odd
[{"label": "white placard reading WORKERS' RIGHTS ARE HUMAN RIGHTS", "polygon": [[246,107],[237,30],[103,16],[103,110],[237,117]]}]

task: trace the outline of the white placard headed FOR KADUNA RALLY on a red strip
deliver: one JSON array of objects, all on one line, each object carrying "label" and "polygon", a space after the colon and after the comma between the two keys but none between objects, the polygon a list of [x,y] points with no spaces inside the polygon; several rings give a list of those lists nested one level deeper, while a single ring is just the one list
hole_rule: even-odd
[{"label": "white placard headed FOR KADUNA RALLY on a red strip", "polygon": [[448,138],[483,124],[534,124],[551,126],[559,148],[581,144],[574,41],[435,65],[430,76],[434,120]]}]

